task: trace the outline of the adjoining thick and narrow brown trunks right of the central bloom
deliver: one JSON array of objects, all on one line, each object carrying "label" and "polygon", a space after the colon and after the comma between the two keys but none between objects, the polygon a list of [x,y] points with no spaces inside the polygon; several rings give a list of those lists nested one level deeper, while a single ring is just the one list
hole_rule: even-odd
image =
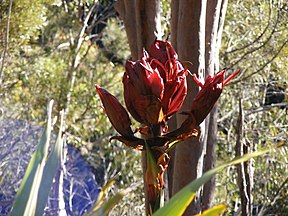
[{"label": "adjoining thick and narrow brown trunks right of the central bloom", "polygon": [[[172,0],[172,45],[183,62],[190,62],[190,64],[187,64],[189,70],[196,73],[201,79],[204,79],[204,76],[214,75],[215,72],[219,71],[219,47],[221,45],[226,7],[227,0]],[[204,73],[204,71],[206,72]],[[183,110],[190,109],[192,100],[198,91],[198,86],[189,77],[188,95],[182,107]],[[178,115],[178,126],[182,123],[182,120],[183,117]],[[173,166],[173,194],[202,175],[203,170],[207,171],[214,167],[217,141],[216,108],[211,111],[200,128],[201,136],[199,139],[193,138],[184,141],[176,147]],[[215,179],[205,185],[202,210],[211,206],[214,188]],[[191,215],[199,211],[200,201],[198,197],[198,200],[187,209],[185,214]]]}]

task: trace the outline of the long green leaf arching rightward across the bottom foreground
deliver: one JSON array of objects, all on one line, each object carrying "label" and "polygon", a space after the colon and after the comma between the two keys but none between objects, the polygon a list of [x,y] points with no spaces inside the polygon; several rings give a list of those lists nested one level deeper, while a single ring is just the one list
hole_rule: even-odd
[{"label": "long green leaf arching rightward across the bottom foreground", "polygon": [[241,157],[236,157],[227,163],[224,163],[214,169],[207,171],[200,178],[195,179],[194,181],[186,185],[183,189],[181,189],[177,194],[175,194],[167,202],[167,204],[163,208],[159,209],[153,215],[154,216],[164,216],[164,215],[165,216],[177,216],[177,215],[180,216],[182,215],[184,211],[186,210],[187,206],[195,197],[197,190],[206,182],[208,182],[210,178],[214,176],[216,173],[218,173],[219,171],[221,171],[222,169],[228,166],[236,165],[236,164],[248,161],[251,158],[264,155],[267,152],[277,147],[279,147],[279,145],[274,148],[264,149],[264,150],[260,150],[260,151],[253,152],[250,154],[243,155]]}]

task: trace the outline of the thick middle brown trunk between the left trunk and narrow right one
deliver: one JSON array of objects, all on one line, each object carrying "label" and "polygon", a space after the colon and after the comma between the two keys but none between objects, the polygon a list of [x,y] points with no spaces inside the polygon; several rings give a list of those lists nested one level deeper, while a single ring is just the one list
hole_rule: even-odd
[{"label": "thick middle brown trunk between the left trunk and narrow right one", "polygon": [[[186,0],[172,1],[172,22],[171,38],[176,44],[176,50],[179,58],[187,64],[192,73],[201,74],[204,71],[204,50],[205,50],[205,17],[203,8],[206,8],[206,1]],[[174,11],[173,11],[174,10]],[[200,16],[202,13],[202,16]],[[176,20],[174,20],[176,19]],[[174,41],[175,40],[175,41]],[[188,77],[188,94],[182,106],[182,110],[189,110],[195,95],[199,91],[198,85],[192,77]],[[183,115],[177,115],[177,123],[180,125],[184,120]],[[202,127],[203,128],[203,127]],[[201,131],[203,132],[203,131]],[[201,139],[193,138],[184,141],[176,147],[174,158],[174,178],[172,193],[177,193],[181,188],[187,185],[191,180],[202,174],[203,145]],[[195,213],[195,207],[199,205],[190,205],[185,215]],[[197,209],[197,208],[196,208]],[[198,211],[199,208],[196,210]]]}]

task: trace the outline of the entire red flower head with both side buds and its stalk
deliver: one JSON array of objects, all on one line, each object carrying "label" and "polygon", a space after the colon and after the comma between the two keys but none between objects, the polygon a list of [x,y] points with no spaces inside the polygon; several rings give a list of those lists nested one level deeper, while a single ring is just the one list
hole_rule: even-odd
[{"label": "entire red flower head with both side buds and its stalk", "polygon": [[224,73],[222,70],[213,77],[208,76],[204,84],[193,75],[201,90],[191,109],[183,113],[187,118],[182,125],[166,133],[167,120],[179,111],[187,94],[188,70],[179,62],[177,53],[167,41],[156,40],[149,52],[143,50],[141,59],[127,61],[123,76],[125,104],[133,118],[142,124],[137,131],[146,135],[145,140],[134,136],[128,112],[119,101],[96,85],[106,114],[121,135],[113,138],[135,149],[147,150],[145,179],[150,203],[156,201],[164,188],[163,174],[169,160],[167,152],[177,141],[198,135],[198,125],[219,99],[223,87],[239,71],[227,79],[224,79]]}]

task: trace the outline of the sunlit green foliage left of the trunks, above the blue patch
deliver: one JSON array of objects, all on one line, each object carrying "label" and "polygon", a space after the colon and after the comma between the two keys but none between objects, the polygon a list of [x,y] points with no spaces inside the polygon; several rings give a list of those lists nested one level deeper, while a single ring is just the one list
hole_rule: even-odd
[{"label": "sunlit green foliage left of the trunks, above the blue patch", "polygon": [[[118,87],[124,71],[122,62],[111,63],[107,52],[115,53],[114,56],[120,60],[129,59],[129,47],[123,25],[115,17],[115,13],[106,13],[106,9],[101,9],[102,6],[110,5],[111,1],[96,1],[99,5],[96,5],[96,14],[93,14],[91,20],[96,22],[94,27],[101,23],[104,28],[98,33],[89,32],[90,28],[93,29],[92,21],[89,20],[89,28],[81,37],[85,40],[78,54],[79,66],[71,70],[77,57],[76,43],[83,19],[94,1],[83,1],[80,4],[78,1],[67,2],[32,1],[27,4],[26,1],[17,1],[17,8],[23,8],[23,12],[27,5],[35,10],[29,10],[26,14],[19,13],[17,20],[13,20],[13,25],[10,26],[9,55],[5,59],[5,73],[0,87],[1,118],[23,119],[42,125],[46,116],[46,104],[50,99],[55,101],[54,112],[65,108],[71,76],[75,72],[69,112],[65,117],[68,126],[67,142],[82,150],[90,165],[96,168],[99,185],[105,184],[112,177],[117,179],[111,192],[114,193],[127,184],[142,181],[140,154],[123,148],[120,143],[109,142],[114,130],[103,113],[99,98],[95,97],[94,84],[105,86],[115,95],[122,92]],[[13,7],[14,3],[16,1],[13,1]],[[5,11],[1,13],[1,48],[5,42],[2,36],[6,29],[7,19],[4,18],[7,16],[8,4],[9,1],[4,1],[0,6],[1,12]],[[102,11],[98,13],[97,10],[100,9]],[[43,19],[36,13],[41,14]],[[15,16],[12,10],[11,22]],[[19,33],[25,34],[26,39],[16,41],[19,39],[18,30],[13,28],[21,26],[22,22],[31,28],[29,32],[18,29]],[[90,37],[93,35],[94,37]],[[99,40],[104,47],[98,46]],[[142,189],[138,187],[137,190],[141,194]],[[139,197],[138,203],[142,203],[142,198]],[[130,208],[129,202],[124,206]],[[127,208],[123,207],[121,210]]]}]

